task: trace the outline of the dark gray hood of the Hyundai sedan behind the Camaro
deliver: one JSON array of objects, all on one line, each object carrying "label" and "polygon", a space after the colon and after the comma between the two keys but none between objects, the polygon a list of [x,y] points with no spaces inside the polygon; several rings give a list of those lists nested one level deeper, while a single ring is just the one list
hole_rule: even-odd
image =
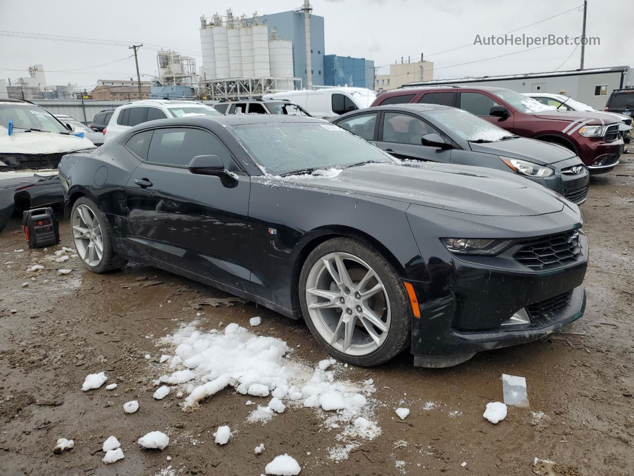
[{"label": "dark gray hood of the Hyundai sedan behind the Camaro", "polygon": [[540,165],[555,164],[574,157],[574,152],[565,147],[525,137],[500,140],[498,142],[470,142],[469,145],[474,152],[504,155],[505,157],[524,159]]}]

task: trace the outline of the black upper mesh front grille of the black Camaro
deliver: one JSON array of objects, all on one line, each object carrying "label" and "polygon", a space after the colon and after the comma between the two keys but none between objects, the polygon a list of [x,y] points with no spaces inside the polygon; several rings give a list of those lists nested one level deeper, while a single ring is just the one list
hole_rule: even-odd
[{"label": "black upper mesh front grille of the black Camaro", "polygon": [[580,253],[579,232],[569,230],[526,242],[514,258],[527,268],[541,271],[574,263]]}]

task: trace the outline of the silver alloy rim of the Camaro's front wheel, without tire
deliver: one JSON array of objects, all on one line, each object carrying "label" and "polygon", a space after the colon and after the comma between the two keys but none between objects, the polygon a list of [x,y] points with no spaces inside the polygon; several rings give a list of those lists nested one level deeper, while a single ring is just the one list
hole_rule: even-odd
[{"label": "silver alloy rim of the Camaro's front wheel, without tire", "polygon": [[370,354],[389,333],[385,286],[370,265],[349,253],[330,253],[314,263],[306,279],[306,305],[321,337],[344,354]]}]

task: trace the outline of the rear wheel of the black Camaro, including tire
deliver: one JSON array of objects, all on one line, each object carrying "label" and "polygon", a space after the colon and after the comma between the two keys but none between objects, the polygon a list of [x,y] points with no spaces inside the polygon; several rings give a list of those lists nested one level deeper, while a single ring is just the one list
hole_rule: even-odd
[{"label": "rear wheel of the black Camaro, including tire", "polygon": [[77,255],[93,273],[106,273],[126,265],[127,260],[113,251],[108,221],[92,199],[80,197],[75,201],[70,227]]}]

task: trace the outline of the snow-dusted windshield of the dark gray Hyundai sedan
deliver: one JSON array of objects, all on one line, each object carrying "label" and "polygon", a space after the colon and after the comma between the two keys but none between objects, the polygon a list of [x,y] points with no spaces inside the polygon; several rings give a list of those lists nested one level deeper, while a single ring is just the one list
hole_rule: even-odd
[{"label": "snow-dusted windshield of the dark gray Hyundai sedan", "polygon": [[434,109],[427,112],[444,128],[470,142],[496,142],[513,135],[463,109]]}]

